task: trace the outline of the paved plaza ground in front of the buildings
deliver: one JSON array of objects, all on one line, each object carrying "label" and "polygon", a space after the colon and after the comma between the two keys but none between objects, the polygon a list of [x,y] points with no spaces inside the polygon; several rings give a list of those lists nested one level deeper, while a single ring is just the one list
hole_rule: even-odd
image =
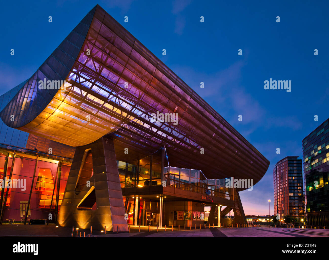
[{"label": "paved plaza ground in front of the buildings", "polygon": [[[114,233],[92,231],[91,237],[329,237],[329,229],[305,229],[305,228],[268,228],[268,227],[247,227],[247,228],[213,228],[202,227],[197,229],[178,230],[178,227],[171,226],[160,229],[151,226],[130,226],[130,232]],[[183,227],[184,229],[184,227]],[[70,237],[72,227],[56,227],[55,225],[1,225],[0,237]],[[89,229],[74,228],[74,236],[87,237]]]}]

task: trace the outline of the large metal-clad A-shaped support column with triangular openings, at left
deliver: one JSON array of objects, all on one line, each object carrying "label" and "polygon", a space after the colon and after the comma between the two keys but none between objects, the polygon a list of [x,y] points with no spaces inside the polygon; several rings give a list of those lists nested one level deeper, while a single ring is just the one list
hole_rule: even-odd
[{"label": "large metal-clad A-shaped support column with triangular openings, at left", "polygon": [[[93,172],[93,175],[92,175]],[[91,176],[92,175],[92,176]],[[96,203],[96,205],[95,205]],[[101,137],[76,148],[58,215],[58,225],[128,231],[124,219],[113,139]]]}]

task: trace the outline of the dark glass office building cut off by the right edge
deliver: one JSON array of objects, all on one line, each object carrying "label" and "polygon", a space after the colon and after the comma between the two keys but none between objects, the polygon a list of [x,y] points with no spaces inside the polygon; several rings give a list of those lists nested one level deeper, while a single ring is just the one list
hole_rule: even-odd
[{"label": "dark glass office building cut off by the right edge", "polygon": [[329,227],[329,119],[303,139],[307,225]]}]

